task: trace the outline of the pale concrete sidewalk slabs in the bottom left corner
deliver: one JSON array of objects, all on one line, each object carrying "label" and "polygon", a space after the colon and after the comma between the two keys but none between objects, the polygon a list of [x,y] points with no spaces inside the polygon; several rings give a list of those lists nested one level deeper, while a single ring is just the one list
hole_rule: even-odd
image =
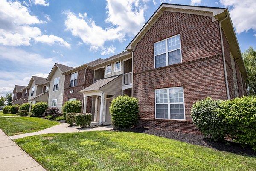
[{"label": "pale concrete sidewalk slabs in the bottom left corner", "polygon": [[0,171],[46,171],[0,129]]}]

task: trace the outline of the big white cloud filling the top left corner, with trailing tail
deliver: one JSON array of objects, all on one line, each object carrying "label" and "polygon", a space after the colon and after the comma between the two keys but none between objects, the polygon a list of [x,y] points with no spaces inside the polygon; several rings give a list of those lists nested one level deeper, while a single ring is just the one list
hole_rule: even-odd
[{"label": "big white cloud filling the top left corner, with trailing tail", "polygon": [[[37,41],[52,44],[58,43],[70,48],[70,45],[63,38],[55,35],[42,35],[41,30],[34,24],[46,23],[36,16],[29,14],[26,6],[15,1],[0,1],[0,44],[6,46],[29,46],[35,38]],[[44,40],[44,39],[46,40]]]}]

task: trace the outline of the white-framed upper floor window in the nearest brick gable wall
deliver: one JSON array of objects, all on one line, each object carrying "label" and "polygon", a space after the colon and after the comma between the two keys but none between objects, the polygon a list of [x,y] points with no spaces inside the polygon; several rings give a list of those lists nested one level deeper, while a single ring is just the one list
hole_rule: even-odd
[{"label": "white-framed upper floor window in the nearest brick gable wall", "polygon": [[181,62],[180,35],[154,43],[155,68]]}]

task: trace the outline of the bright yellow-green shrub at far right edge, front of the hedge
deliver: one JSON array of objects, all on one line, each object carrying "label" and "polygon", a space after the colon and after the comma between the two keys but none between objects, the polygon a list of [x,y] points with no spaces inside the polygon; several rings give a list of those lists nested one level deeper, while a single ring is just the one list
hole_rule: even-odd
[{"label": "bright yellow-green shrub at far right edge, front of the hedge", "polygon": [[223,101],[216,111],[232,139],[256,151],[256,97]]}]

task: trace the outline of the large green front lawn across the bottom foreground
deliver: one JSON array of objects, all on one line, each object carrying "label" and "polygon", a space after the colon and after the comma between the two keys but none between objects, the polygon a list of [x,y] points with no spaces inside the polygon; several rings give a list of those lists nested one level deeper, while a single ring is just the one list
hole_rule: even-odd
[{"label": "large green front lawn across the bottom foreground", "polygon": [[142,133],[58,133],[15,142],[48,171],[256,170],[255,157]]}]

